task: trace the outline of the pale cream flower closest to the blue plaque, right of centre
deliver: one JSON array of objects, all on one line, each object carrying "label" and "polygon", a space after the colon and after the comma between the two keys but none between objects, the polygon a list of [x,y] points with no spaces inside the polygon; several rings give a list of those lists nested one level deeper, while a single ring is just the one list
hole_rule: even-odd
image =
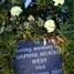
[{"label": "pale cream flower closest to the blue plaque, right of centre", "polygon": [[53,20],[47,20],[44,24],[44,28],[46,28],[47,32],[53,32],[55,30],[55,22]]}]

